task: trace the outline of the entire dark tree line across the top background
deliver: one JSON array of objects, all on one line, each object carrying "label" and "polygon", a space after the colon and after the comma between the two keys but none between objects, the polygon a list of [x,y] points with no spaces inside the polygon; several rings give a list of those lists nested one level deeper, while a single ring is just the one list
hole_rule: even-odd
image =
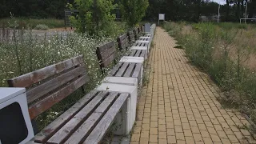
[{"label": "entire dark tree line across the top background", "polygon": [[[149,6],[146,10],[145,20],[156,21],[159,13],[166,14],[166,20],[190,22],[198,22],[200,16],[218,15],[218,3],[210,0],[146,1]],[[113,2],[114,5],[125,1],[114,0]],[[134,10],[138,13],[141,12],[134,8],[137,5],[136,2],[138,0],[126,1],[126,9],[130,9],[130,13],[133,13]],[[16,17],[64,18],[63,10],[67,9],[67,3],[73,4],[74,0],[1,0],[0,18],[10,17],[10,12]],[[247,18],[254,18],[256,16],[256,1],[226,0],[226,5],[222,5],[220,8],[222,21],[238,22],[239,18],[245,18],[246,3]],[[118,5],[116,8],[120,8],[120,6]],[[112,11],[116,13],[115,10]]]}]

